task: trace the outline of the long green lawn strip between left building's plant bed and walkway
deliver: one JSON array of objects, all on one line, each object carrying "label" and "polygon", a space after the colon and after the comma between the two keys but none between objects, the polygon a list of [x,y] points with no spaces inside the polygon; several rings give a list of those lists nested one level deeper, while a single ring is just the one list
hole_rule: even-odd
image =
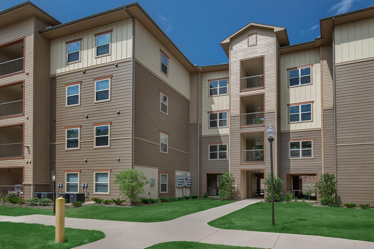
[{"label": "long green lawn strip between left building's plant bed and walkway", "polygon": [[[68,208],[65,210],[65,217],[113,221],[157,222],[173,220],[187,214],[193,214],[228,203],[232,203],[232,201],[201,198],[131,208],[90,205],[80,208]],[[20,216],[30,214],[52,215],[52,210],[0,206],[0,215]]]}]

